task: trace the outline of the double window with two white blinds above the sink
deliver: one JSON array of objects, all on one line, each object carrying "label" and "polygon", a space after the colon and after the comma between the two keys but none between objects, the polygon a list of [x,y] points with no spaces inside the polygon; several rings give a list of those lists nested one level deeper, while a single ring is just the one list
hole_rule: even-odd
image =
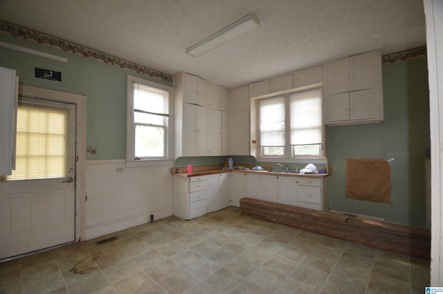
[{"label": "double window with two white blinds above the sink", "polygon": [[261,157],[322,157],[320,89],[257,101]]}]

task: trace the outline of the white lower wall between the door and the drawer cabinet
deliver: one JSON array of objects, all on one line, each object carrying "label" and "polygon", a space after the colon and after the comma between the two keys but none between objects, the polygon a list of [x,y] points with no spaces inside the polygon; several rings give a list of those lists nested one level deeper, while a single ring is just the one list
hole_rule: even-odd
[{"label": "white lower wall between the door and the drawer cabinet", "polygon": [[125,160],[87,161],[85,239],[174,214],[168,166],[126,167]]}]

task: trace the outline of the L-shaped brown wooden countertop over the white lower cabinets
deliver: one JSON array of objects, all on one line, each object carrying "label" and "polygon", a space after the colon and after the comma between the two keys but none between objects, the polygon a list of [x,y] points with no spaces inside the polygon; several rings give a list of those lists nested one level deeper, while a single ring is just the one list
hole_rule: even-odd
[{"label": "L-shaped brown wooden countertop over the white lower cabinets", "polygon": [[[246,168],[246,169],[244,169]],[[179,177],[190,178],[200,175],[216,175],[217,173],[263,173],[264,175],[278,175],[284,177],[303,177],[303,178],[325,178],[329,173],[284,173],[281,171],[271,171],[270,166],[264,166],[264,171],[253,171],[253,166],[234,166],[233,169],[224,168],[223,166],[194,166],[192,173],[188,173],[186,167],[173,167],[171,174]]]}]

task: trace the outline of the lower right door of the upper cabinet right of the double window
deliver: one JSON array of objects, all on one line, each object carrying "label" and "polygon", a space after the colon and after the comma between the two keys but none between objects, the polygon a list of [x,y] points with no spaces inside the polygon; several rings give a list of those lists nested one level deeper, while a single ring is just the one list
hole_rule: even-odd
[{"label": "lower right door of the upper cabinet right of the double window", "polygon": [[350,92],[351,120],[383,120],[381,89],[372,88]]}]

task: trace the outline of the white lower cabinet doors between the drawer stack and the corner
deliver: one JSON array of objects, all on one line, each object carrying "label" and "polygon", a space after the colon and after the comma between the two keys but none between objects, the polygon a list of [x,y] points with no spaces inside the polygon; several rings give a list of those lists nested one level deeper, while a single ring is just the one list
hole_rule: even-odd
[{"label": "white lower cabinet doors between the drawer stack and the corner", "polygon": [[208,175],[208,193],[206,197],[207,213],[224,209],[230,205],[229,182],[230,177],[228,173]]}]

